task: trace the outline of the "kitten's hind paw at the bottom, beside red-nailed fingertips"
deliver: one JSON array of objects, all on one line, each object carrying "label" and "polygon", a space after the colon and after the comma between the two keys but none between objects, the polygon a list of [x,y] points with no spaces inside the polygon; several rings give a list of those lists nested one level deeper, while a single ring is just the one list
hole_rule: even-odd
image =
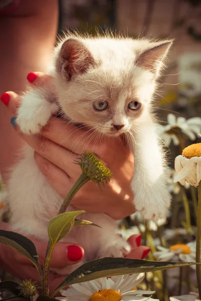
[{"label": "kitten's hind paw at the bottom, beside red-nailed fingertips", "polygon": [[110,245],[102,247],[97,257],[126,257],[130,251],[130,244],[123,237],[117,237]]}]

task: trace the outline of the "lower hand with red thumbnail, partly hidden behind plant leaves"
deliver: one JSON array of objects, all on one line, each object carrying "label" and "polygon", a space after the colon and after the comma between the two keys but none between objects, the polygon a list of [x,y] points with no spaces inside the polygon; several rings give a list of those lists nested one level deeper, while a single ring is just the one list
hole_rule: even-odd
[{"label": "lower hand with red thumbnail, partly hidden behind plant leaves", "polygon": [[[12,230],[9,224],[3,222],[0,222],[0,229]],[[32,236],[28,236],[28,238],[35,244],[40,265],[43,266],[47,243],[36,240]],[[50,268],[64,268],[68,265],[75,264],[82,259],[83,255],[84,250],[82,247],[66,242],[58,242],[53,251]],[[3,243],[0,243],[0,266],[21,280],[32,279],[32,281],[39,283],[39,286],[41,284],[39,273],[32,262],[26,256],[21,255]],[[64,277],[64,275],[58,275],[50,270],[50,291],[53,291]]]}]

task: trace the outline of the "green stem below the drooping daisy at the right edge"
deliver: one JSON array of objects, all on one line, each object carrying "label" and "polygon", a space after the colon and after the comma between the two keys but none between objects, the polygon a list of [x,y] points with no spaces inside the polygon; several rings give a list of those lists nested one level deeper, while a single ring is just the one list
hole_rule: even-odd
[{"label": "green stem below the drooping daisy at the right edge", "polygon": [[[201,263],[201,181],[198,185],[198,210],[197,210],[197,237],[196,237],[196,262]],[[201,298],[201,265],[196,264],[197,286],[199,299]]]}]

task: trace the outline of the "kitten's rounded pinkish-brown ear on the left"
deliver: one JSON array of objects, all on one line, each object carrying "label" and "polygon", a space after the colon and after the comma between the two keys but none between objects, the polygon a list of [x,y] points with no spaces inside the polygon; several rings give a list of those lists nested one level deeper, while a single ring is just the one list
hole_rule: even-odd
[{"label": "kitten's rounded pinkish-brown ear on the left", "polygon": [[95,61],[88,49],[80,41],[69,39],[61,47],[59,71],[67,80],[87,71]]}]

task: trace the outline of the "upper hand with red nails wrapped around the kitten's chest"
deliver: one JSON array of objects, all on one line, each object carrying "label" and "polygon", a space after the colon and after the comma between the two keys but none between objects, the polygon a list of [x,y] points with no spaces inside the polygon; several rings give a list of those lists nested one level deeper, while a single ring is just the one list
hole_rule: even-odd
[{"label": "upper hand with red nails wrapped around the kitten's chest", "polygon": [[[48,86],[51,77],[32,73],[33,86]],[[28,78],[30,79],[29,75]],[[33,79],[35,80],[33,81]],[[7,92],[8,108],[16,115],[20,96]],[[1,97],[3,100],[3,98]],[[51,186],[65,197],[81,174],[73,160],[83,150],[97,154],[110,167],[113,177],[99,191],[92,181],[86,183],[75,195],[71,204],[88,212],[104,212],[115,219],[122,219],[135,211],[131,180],[134,171],[134,156],[128,146],[116,137],[98,139],[90,131],[75,127],[59,118],[51,118],[40,135],[24,135],[18,126],[17,133],[35,150],[35,161]]]}]

